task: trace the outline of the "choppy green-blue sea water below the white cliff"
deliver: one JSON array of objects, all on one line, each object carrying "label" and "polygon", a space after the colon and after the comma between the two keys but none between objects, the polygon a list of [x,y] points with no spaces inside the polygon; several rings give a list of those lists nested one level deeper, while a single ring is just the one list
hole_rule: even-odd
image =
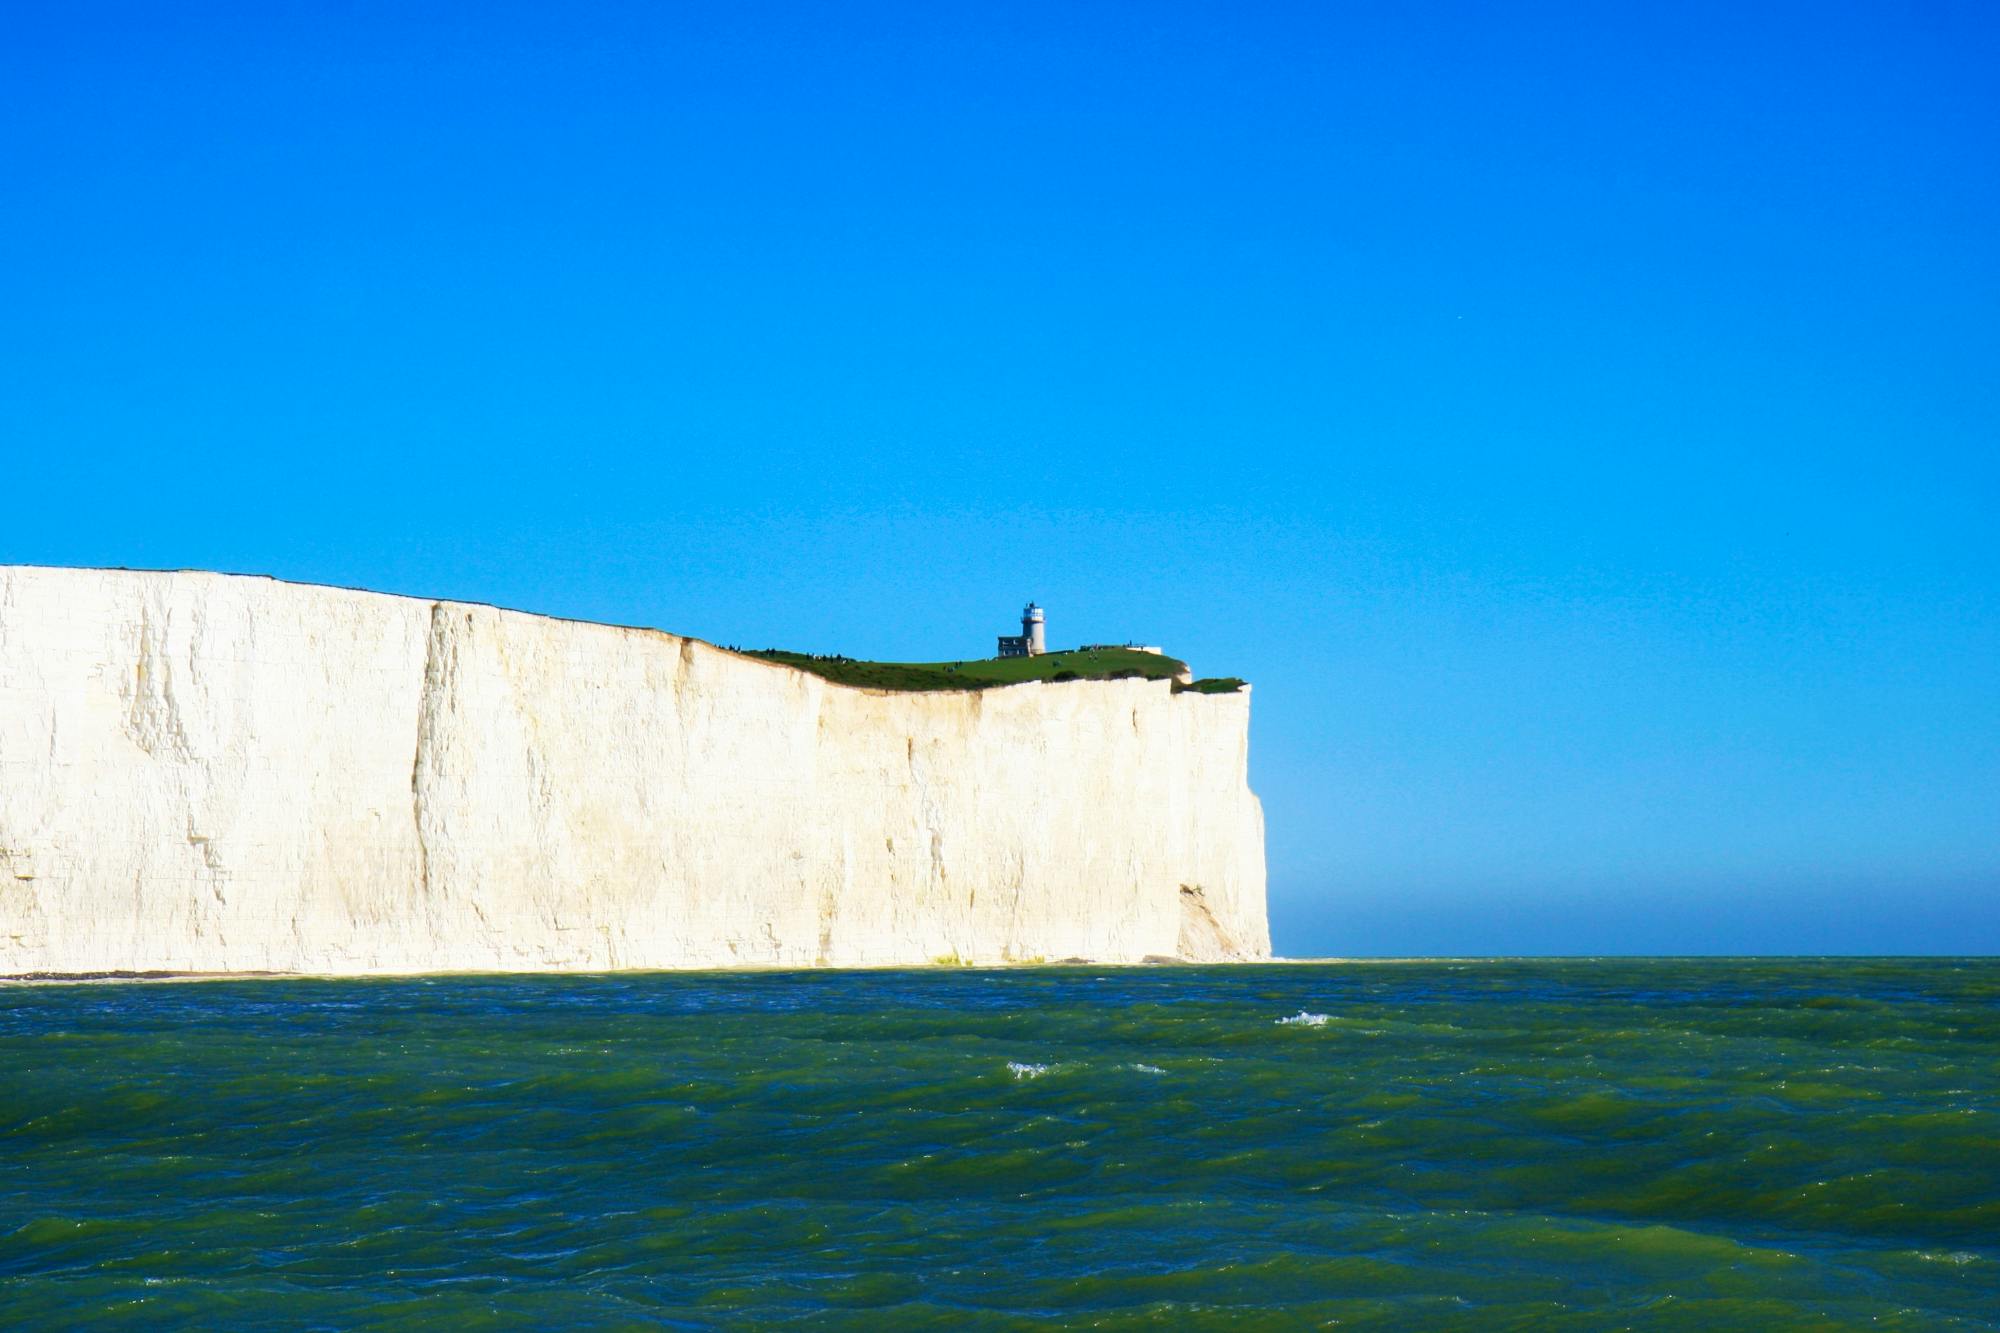
[{"label": "choppy green-blue sea water below the white cliff", "polygon": [[2000,961],[0,989],[0,1325],[2000,1327]]}]

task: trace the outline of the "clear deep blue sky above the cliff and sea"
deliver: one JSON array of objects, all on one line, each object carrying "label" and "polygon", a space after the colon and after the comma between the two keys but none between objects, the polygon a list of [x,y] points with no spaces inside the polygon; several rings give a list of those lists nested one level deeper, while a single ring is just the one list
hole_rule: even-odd
[{"label": "clear deep blue sky above the cliff and sea", "polygon": [[1034,596],[1284,953],[2000,951],[1996,14],[12,4],[0,560]]}]

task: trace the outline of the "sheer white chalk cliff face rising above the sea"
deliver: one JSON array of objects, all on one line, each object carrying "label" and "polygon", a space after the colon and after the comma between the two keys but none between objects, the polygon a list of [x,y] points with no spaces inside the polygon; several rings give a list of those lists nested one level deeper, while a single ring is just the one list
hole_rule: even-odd
[{"label": "sheer white chalk cliff face rising above the sea", "polygon": [[0,568],[0,973],[1270,953],[1248,695]]}]

